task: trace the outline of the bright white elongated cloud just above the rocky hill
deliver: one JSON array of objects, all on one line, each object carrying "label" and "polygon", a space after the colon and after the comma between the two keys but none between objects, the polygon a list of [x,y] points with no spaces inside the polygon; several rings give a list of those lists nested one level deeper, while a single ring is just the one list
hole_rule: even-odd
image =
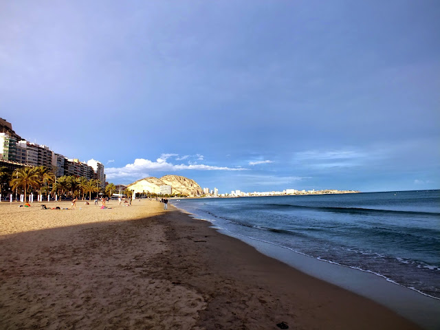
[{"label": "bright white elongated cloud just above the rocky hill", "polygon": [[[126,164],[124,167],[110,167],[105,169],[108,179],[140,179],[147,177],[150,172],[177,170],[246,170],[246,168],[230,168],[227,166],[210,166],[203,164],[172,164],[167,162],[169,157],[178,156],[175,153],[164,153],[152,162],[149,159],[137,158],[132,164]],[[198,155],[200,157],[200,155]]]}]

